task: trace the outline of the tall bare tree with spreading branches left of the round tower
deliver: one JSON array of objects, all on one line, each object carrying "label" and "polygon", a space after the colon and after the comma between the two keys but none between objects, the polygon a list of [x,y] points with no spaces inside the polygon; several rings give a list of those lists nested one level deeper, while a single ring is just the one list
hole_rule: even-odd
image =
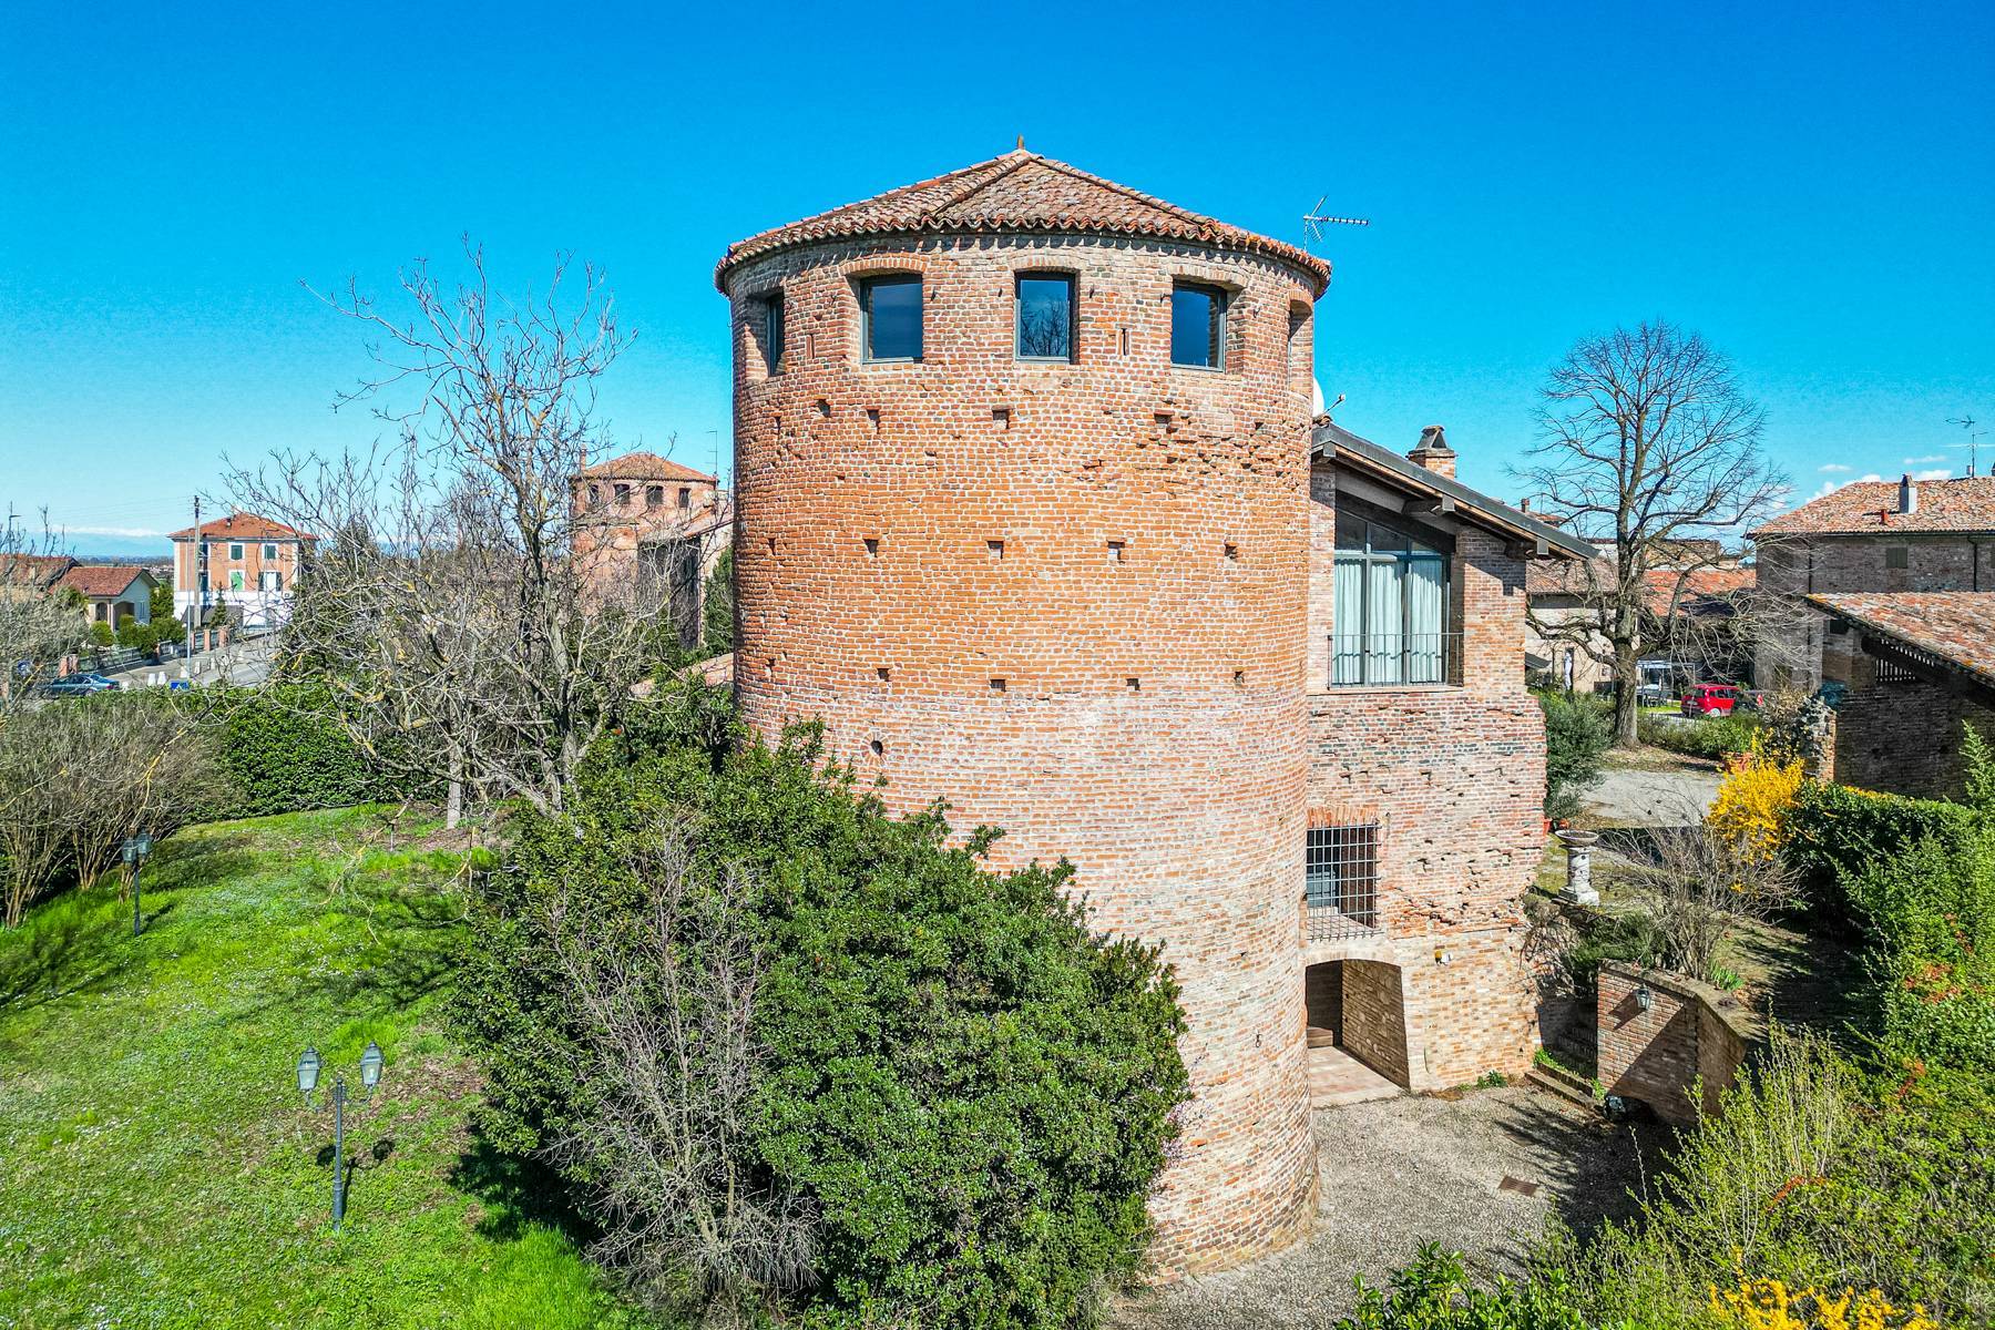
[{"label": "tall bare tree with spreading branches left of the round tower", "polygon": [[467,798],[559,812],[654,666],[664,614],[575,540],[597,385],[630,341],[600,273],[571,291],[563,261],[511,303],[467,257],[455,289],[427,263],[403,273],[405,319],[353,285],[325,297],[377,337],[377,371],[337,407],[369,403],[393,443],[229,477],[243,506],[321,536],[277,668],[323,676],[321,714],[381,770],[445,788],[451,826]]}]

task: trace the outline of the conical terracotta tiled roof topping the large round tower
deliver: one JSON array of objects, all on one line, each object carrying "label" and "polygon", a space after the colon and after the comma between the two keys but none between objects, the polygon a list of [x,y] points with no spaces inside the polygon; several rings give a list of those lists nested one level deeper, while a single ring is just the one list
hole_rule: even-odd
[{"label": "conical terracotta tiled roof topping the large round tower", "polygon": [[870,199],[734,241],[714,267],[714,285],[724,293],[730,267],[774,249],[822,239],[916,231],[936,235],[1089,231],[1179,239],[1223,249],[1247,249],[1291,263],[1309,273],[1317,295],[1331,283],[1331,265],[1295,245],[1243,231],[1019,148],[948,175],[888,189]]}]

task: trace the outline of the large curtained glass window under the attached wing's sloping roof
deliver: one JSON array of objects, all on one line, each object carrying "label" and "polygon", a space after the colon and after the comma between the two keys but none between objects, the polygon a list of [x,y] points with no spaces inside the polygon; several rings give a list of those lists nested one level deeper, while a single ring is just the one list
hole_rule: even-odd
[{"label": "large curtained glass window under the attached wing's sloping roof", "polygon": [[1448,558],[1412,536],[1337,514],[1331,684],[1444,684]]}]

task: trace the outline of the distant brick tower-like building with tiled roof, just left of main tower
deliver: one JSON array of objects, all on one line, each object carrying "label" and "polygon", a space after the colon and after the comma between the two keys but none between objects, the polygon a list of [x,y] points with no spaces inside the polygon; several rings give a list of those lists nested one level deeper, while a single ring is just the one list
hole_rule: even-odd
[{"label": "distant brick tower-like building with tiled roof, just left of main tower", "polygon": [[656,453],[624,453],[583,467],[569,487],[585,578],[604,590],[668,596],[680,644],[692,646],[706,576],[732,528],[718,479]]}]

